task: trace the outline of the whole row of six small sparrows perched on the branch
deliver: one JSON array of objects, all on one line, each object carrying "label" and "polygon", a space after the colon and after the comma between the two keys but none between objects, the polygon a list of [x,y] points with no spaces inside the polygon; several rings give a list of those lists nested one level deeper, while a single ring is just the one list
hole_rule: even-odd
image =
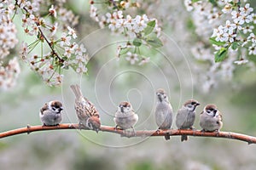
[{"label": "whole row of six small sparrows perched on the branch", "polygon": [[[75,94],[74,108],[79,119],[79,127],[87,127],[90,130],[98,132],[101,127],[100,115],[96,110],[96,107],[86,99],[81,91],[79,85],[71,85],[70,88]],[[159,127],[158,131],[171,129],[172,127],[172,105],[170,104],[165,90],[158,89],[156,92],[157,103],[155,107],[155,122]],[[186,101],[182,108],[177,111],[176,126],[178,129],[194,129],[195,122],[195,109],[200,105],[195,99],[189,99]],[[44,104],[40,110],[41,122],[43,126],[57,126],[61,123],[63,110],[60,101],[49,101]],[[118,106],[113,118],[113,122],[116,124],[116,128],[123,130],[132,128],[138,121],[137,114],[133,111],[131,103],[124,101]],[[222,115],[216,105],[206,105],[200,115],[200,126],[202,131],[207,132],[219,132],[222,127]],[[169,135],[165,136],[165,139],[170,139]],[[181,141],[188,140],[187,135],[182,135]]]}]

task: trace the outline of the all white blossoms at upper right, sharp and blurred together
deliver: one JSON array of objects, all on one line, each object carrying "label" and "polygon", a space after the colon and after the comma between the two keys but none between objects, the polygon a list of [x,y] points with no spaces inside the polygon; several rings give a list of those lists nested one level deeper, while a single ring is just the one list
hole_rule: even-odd
[{"label": "all white blossoms at upper right, sharp and blurred together", "polygon": [[[246,58],[247,54],[256,54],[253,33],[256,18],[249,3],[242,4],[241,1],[231,0],[184,0],[184,5],[192,13],[195,32],[204,44],[195,43],[192,54],[195,59],[205,61],[209,65],[207,71],[195,69],[206,73],[205,78],[201,75],[201,82],[204,83],[206,92],[218,84],[218,78],[214,77],[224,77],[224,79],[229,77],[230,79],[236,65],[247,64],[248,67],[255,67],[254,63],[250,63]],[[210,37],[210,41],[207,37]],[[209,48],[210,44],[215,50],[213,53]],[[217,63],[220,61],[222,63]]]}]

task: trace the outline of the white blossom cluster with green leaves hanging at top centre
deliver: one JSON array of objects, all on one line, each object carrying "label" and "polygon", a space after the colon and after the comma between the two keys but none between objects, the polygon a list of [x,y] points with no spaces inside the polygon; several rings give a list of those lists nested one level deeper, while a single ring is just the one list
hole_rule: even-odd
[{"label": "white blossom cluster with green leaves hanging at top centre", "polygon": [[[108,12],[100,14],[96,4],[107,4]],[[96,20],[101,28],[108,26],[110,31],[127,37],[127,41],[119,44],[117,48],[116,57],[118,59],[124,55],[131,65],[135,63],[143,65],[150,58],[141,54],[140,48],[160,48],[163,46],[160,40],[161,29],[158,26],[158,21],[148,18],[146,14],[132,17],[123,12],[131,7],[139,7],[139,4],[131,3],[131,1],[90,1],[90,17]]]}]

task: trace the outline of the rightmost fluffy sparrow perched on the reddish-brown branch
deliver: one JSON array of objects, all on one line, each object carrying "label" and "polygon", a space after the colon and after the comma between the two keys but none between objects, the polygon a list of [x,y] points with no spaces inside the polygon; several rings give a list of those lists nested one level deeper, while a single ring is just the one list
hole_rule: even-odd
[{"label": "rightmost fluffy sparrow perched on the reddish-brown branch", "polygon": [[206,105],[204,111],[200,115],[200,126],[202,131],[219,132],[219,129],[223,126],[221,112],[218,111],[216,105]]}]

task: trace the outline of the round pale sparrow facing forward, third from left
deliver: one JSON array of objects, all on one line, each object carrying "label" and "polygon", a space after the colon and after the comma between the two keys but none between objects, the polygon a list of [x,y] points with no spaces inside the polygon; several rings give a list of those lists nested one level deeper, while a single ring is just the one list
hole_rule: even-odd
[{"label": "round pale sparrow facing forward, third from left", "polygon": [[115,116],[113,117],[113,122],[116,124],[116,128],[120,127],[122,129],[132,128],[133,132],[134,125],[138,121],[137,114],[133,111],[131,103],[123,101],[118,106],[118,111],[116,111]]}]

